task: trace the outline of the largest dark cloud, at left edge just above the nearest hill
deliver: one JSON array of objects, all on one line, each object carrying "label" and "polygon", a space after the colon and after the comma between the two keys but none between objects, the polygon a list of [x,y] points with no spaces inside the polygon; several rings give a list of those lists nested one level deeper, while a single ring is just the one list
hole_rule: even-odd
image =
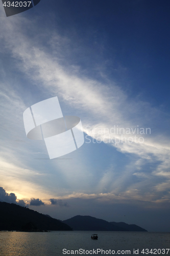
[{"label": "largest dark cloud, at left edge just above the nearest hill", "polygon": [[0,187],[0,202],[27,206],[27,204],[23,200],[17,200],[17,197],[14,193],[8,194],[3,187]]}]

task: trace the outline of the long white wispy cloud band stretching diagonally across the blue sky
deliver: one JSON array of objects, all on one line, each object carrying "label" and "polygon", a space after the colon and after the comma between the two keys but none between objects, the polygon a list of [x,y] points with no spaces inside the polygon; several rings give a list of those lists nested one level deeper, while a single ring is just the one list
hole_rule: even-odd
[{"label": "long white wispy cloud band stretching diagonally across the blue sky", "polygon": [[[26,24],[27,33],[25,32]],[[97,195],[100,188],[106,189],[107,197],[108,193],[113,195],[120,193],[119,198],[121,198],[126,193],[127,197],[133,200],[145,200],[145,196],[138,193],[136,187],[140,188],[140,191],[147,187],[148,200],[161,200],[162,195],[155,192],[155,198],[151,190],[156,188],[157,191],[167,191],[168,185],[170,185],[168,175],[166,175],[170,164],[169,135],[167,133],[169,116],[163,113],[159,106],[155,108],[149,102],[138,98],[130,99],[128,94],[109,78],[105,79],[105,82],[91,79],[87,75],[82,75],[77,67],[64,66],[59,58],[62,55],[66,59],[62,44],[58,46],[57,52],[54,54],[53,49],[48,49],[41,43],[41,38],[36,38],[31,28],[32,22],[20,17],[7,20],[1,28],[1,38],[5,41],[4,49],[8,53],[10,52],[15,59],[17,69],[34,82],[37,90],[42,94],[47,94],[50,97],[59,95],[67,108],[81,114],[84,132],[89,137],[100,138],[101,141],[114,146],[120,153],[135,156],[131,164],[125,165],[125,169],[121,175],[115,177],[115,180],[113,168],[105,170],[93,189],[94,195]],[[49,33],[47,34],[49,35]],[[62,38],[60,35],[49,35],[48,38],[45,38],[45,42],[48,45],[53,45],[53,48],[58,40],[60,42],[67,41],[69,44],[69,39]],[[9,100],[7,96],[6,100]],[[21,109],[23,107],[24,103]],[[161,125],[161,123],[163,124]],[[137,125],[144,128],[150,127],[151,134],[142,135],[143,143],[125,142],[126,138],[134,138],[134,134],[123,134],[124,141],[115,143],[121,139],[122,134],[111,132],[114,125],[124,129],[127,127],[135,129]],[[94,133],[94,130],[99,132]],[[103,131],[102,134],[100,131]],[[66,173],[67,170],[62,164],[59,163],[58,166],[63,171],[65,178],[71,177],[71,174]],[[81,170],[79,172],[81,174]],[[77,177],[78,172],[75,174]],[[162,179],[159,179],[158,176],[162,176]],[[128,177],[134,179],[127,182]],[[137,179],[141,177],[146,178],[147,181],[139,182]],[[111,180],[113,182],[110,182]],[[71,182],[71,179],[69,181]],[[73,178],[71,184],[74,184]],[[78,187],[78,189],[80,188]],[[84,184],[84,190],[86,189],[87,185]],[[84,194],[86,195],[85,191]],[[89,193],[89,195],[93,194]],[[169,198],[168,193],[166,196]]]}]

